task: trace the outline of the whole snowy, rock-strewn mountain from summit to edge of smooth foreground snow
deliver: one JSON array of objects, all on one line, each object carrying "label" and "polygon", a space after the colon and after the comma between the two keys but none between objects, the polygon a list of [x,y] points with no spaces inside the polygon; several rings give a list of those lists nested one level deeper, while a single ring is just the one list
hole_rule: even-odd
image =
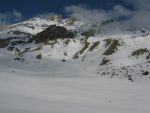
[{"label": "whole snowy, rock-strewn mountain from summit to edge of smooth foreground snow", "polygon": [[[44,59],[73,61],[79,65],[81,63],[84,68],[90,65],[91,71],[99,76],[113,78],[119,75],[131,81],[143,75],[149,77],[148,30],[131,29],[137,31],[134,35],[127,33],[90,36],[93,32],[85,29],[83,22],[58,17],[33,18],[10,25],[0,32],[1,58],[11,56],[13,61],[29,65],[38,62],[41,66]],[[75,33],[76,37],[69,38],[69,32]]]}]

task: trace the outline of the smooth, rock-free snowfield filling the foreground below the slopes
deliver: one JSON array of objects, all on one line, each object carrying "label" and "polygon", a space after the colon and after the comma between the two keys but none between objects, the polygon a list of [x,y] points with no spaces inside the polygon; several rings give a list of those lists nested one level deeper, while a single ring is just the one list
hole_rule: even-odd
[{"label": "smooth, rock-free snowfield filling the foreground below the slopes", "polygon": [[150,111],[150,83],[142,77],[136,82],[110,79],[92,74],[91,67],[83,68],[81,63],[79,65],[77,62],[64,63],[55,60],[49,62],[49,65],[27,65],[9,61],[7,58],[1,59],[1,113]]}]

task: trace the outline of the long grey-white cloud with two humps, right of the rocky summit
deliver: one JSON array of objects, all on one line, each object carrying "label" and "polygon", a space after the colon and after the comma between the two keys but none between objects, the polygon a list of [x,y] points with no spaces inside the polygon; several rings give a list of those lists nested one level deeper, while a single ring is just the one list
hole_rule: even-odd
[{"label": "long grey-white cloud with two humps, right of the rocky summit", "polygon": [[109,11],[102,9],[91,9],[84,5],[68,6],[65,10],[69,13],[69,16],[91,24],[101,24],[109,19],[128,17],[132,14],[130,10],[121,5],[116,5]]}]

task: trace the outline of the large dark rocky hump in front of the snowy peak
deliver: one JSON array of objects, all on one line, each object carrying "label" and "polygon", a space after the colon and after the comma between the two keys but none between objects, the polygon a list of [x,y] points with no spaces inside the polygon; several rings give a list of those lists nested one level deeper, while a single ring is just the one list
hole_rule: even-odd
[{"label": "large dark rocky hump in front of the snowy peak", "polygon": [[58,38],[74,38],[75,34],[71,31],[68,31],[66,28],[61,26],[52,25],[46,30],[38,33],[33,36],[30,41],[35,41],[35,43],[47,43],[49,40],[55,40]]}]

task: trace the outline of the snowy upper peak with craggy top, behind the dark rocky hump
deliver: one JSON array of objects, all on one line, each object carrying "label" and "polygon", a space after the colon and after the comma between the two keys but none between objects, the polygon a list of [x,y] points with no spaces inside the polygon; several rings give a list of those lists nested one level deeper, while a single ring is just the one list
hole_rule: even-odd
[{"label": "snowy upper peak with craggy top, behind the dark rocky hump", "polygon": [[75,21],[72,22],[71,19],[54,20],[51,19],[41,19],[41,18],[32,18],[27,21],[1,27],[0,36],[1,38],[8,37],[24,37],[25,35],[36,35],[37,33],[45,30],[50,25],[65,26],[67,29],[79,28],[83,25],[82,22]]}]

